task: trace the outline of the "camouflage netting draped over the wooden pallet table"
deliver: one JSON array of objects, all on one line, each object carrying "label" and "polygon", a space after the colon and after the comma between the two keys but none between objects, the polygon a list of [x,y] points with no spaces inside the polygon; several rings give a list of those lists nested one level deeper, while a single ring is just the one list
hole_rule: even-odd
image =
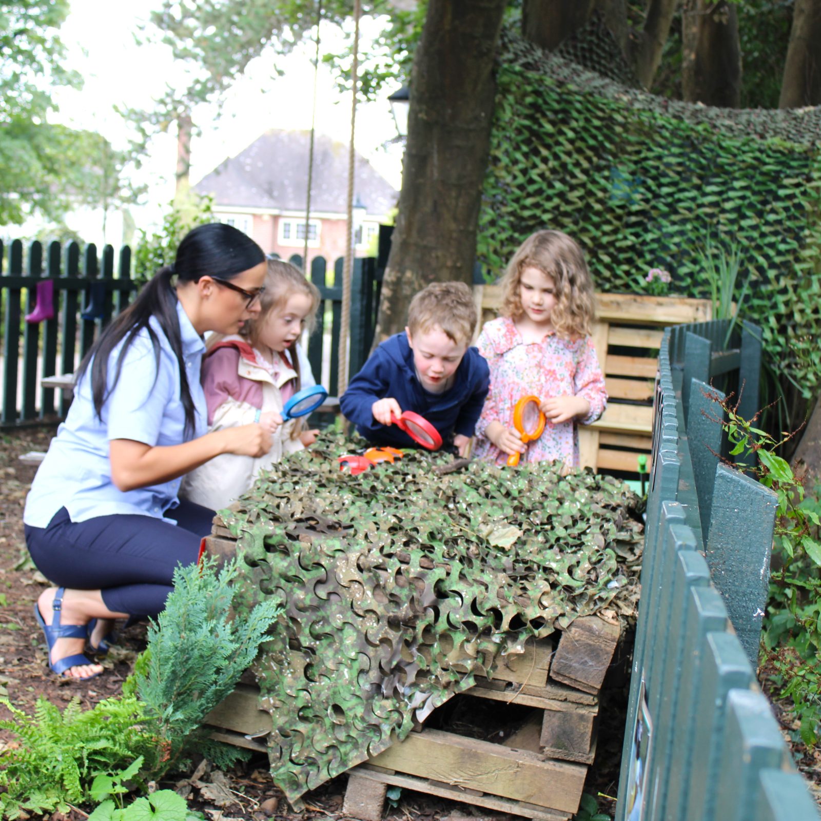
[{"label": "camouflage netting draped over the wooden pallet table", "polygon": [[271,772],[292,801],[531,636],[594,613],[632,621],[639,594],[638,499],[617,479],[562,479],[552,464],[440,475],[452,457],[426,452],[351,476],[336,461],[346,447],[323,436],[226,520],[247,603],[286,608],[255,672]]}]

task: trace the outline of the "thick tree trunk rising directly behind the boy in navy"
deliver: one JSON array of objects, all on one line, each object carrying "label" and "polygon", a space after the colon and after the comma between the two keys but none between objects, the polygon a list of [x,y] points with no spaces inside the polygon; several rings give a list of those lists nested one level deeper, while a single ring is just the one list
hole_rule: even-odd
[{"label": "thick tree trunk rising directly behind the boy in navy", "polygon": [[410,77],[399,213],[374,343],[406,325],[429,282],[473,281],[506,0],[430,0]]}]

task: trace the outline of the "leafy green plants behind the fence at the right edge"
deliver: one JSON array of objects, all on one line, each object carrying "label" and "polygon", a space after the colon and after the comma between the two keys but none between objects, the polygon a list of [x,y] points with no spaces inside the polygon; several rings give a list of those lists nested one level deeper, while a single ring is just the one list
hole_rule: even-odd
[{"label": "leafy green plants behind the fence at the right edge", "polygon": [[773,570],[764,615],[761,666],[779,695],[792,699],[800,738],[819,741],[821,721],[821,486],[805,495],[789,463],[775,454],[782,442],[754,427],[725,402],[731,455],[744,455],[755,478],[778,498]]}]

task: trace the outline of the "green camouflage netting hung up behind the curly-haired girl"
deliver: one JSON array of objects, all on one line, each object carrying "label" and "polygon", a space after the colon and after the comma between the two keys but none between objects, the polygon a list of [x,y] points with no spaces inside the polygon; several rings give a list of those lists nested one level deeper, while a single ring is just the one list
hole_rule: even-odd
[{"label": "green camouflage netting hung up behind the curly-haired girl", "polygon": [[[633,87],[623,61],[589,32],[562,49],[624,85],[505,34],[479,216],[482,264],[501,273],[525,236],[554,227],[580,242],[602,291],[642,292],[649,268],[666,268],[672,293],[709,297],[699,250],[708,240],[716,254],[734,243],[738,287],[754,272],[743,315],[763,328],[778,368],[813,396],[821,388],[821,108],[663,99]],[[602,54],[608,59],[597,62]]]}]

